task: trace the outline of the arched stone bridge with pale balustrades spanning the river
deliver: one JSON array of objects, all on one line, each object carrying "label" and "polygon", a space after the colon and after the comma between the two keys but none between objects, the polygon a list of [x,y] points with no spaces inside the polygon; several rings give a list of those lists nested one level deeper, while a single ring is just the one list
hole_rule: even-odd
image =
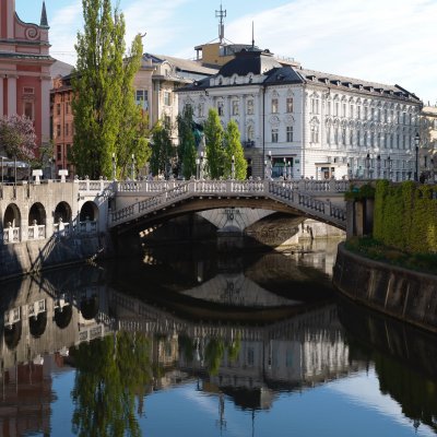
[{"label": "arched stone bridge with pale balustrades spanning the river", "polygon": [[306,216],[345,231],[347,189],[347,180],[335,179],[118,182],[108,227],[122,234],[187,212],[238,206]]}]

